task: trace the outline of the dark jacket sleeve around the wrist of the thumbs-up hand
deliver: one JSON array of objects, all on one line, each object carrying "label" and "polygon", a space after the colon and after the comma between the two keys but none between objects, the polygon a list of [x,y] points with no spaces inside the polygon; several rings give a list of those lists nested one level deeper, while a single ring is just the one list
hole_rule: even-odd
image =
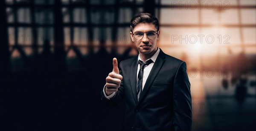
[{"label": "dark jacket sleeve around the wrist of the thumbs-up hand", "polygon": [[[119,74],[122,75],[122,69],[121,69],[121,64],[122,61],[120,62],[120,67],[119,67]],[[103,89],[101,90],[101,101],[102,103],[107,106],[107,107],[116,107],[122,100],[125,98],[125,92],[124,92],[124,85],[123,85],[123,80],[121,80],[120,87],[118,88],[118,91],[114,95],[114,97],[107,99],[104,94],[103,94]]]}]

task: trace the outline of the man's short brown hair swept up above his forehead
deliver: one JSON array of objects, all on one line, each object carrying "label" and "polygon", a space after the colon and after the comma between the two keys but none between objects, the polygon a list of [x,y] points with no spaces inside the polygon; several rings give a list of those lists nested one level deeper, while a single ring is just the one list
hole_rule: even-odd
[{"label": "man's short brown hair swept up above his forehead", "polygon": [[131,31],[134,29],[134,27],[138,23],[153,23],[155,25],[155,27],[157,28],[157,30],[159,30],[158,20],[156,17],[154,17],[153,14],[140,13],[140,14],[137,14],[135,17],[133,17],[130,22]]}]

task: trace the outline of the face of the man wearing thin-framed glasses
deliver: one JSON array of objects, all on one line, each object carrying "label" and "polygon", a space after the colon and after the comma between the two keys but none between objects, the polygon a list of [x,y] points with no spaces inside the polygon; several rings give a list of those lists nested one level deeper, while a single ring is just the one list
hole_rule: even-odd
[{"label": "face of the man wearing thin-framed glasses", "polygon": [[[130,32],[131,40],[135,43],[140,54],[149,54],[152,51],[157,51],[157,40],[160,34],[160,31],[157,32],[154,39],[149,39],[146,32],[156,32],[157,29],[153,23],[139,23],[133,29],[133,34]],[[143,34],[144,32],[144,34]],[[143,34],[141,40],[135,39],[134,34]]]}]

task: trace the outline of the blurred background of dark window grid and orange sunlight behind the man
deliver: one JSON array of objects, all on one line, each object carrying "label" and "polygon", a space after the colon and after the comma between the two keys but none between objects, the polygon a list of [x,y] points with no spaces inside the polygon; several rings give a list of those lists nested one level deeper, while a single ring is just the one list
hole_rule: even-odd
[{"label": "blurred background of dark window grid and orange sunlight behind the man", "polygon": [[[112,58],[138,54],[129,22],[187,63],[193,131],[256,130],[256,0],[1,0],[1,131],[119,131],[100,103]],[[154,119],[154,118],[152,118]]]}]

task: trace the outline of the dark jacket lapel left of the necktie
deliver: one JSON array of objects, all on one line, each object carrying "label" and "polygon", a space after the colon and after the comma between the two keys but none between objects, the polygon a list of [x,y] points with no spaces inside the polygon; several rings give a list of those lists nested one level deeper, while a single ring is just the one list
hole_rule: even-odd
[{"label": "dark jacket lapel left of the necktie", "polygon": [[138,68],[138,64],[137,64],[137,59],[134,60],[134,62],[131,64],[131,68],[130,68],[130,82],[131,82],[131,90],[132,90],[132,94],[134,96],[134,101],[137,104],[138,103],[138,98],[137,98],[137,68]]}]

